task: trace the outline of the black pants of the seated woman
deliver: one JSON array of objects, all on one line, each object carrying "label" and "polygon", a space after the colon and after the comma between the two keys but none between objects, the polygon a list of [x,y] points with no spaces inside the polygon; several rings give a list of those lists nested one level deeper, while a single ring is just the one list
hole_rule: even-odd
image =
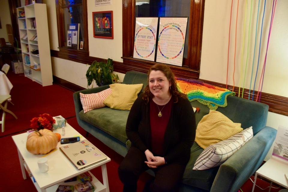
[{"label": "black pants of the seated woman", "polygon": [[[124,184],[124,192],[137,191],[139,176],[149,169],[144,161],[147,161],[146,155],[132,146],[118,168],[119,178]],[[151,168],[155,172],[155,179],[146,184],[144,191],[177,191],[185,167],[186,164],[169,163],[156,169]]]}]

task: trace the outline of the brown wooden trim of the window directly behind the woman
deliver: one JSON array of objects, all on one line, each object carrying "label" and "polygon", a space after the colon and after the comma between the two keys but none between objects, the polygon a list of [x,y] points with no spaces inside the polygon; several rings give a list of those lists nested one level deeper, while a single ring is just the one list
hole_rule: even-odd
[{"label": "brown wooden trim of the window directly behind the woman", "polygon": [[[183,60],[183,66],[170,65],[176,76],[185,78],[199,78],[200,58],[202,48],[202,32],[205,0],[191,0],[189,16],[189,41],[187,59]],[[133,58],[134,34],[135,34],[135,0],[122,0],[122,29],[123,29],[123,64],[116,65],[115,71],[126,73],[134,70],[147,72],[155,64]]]}]

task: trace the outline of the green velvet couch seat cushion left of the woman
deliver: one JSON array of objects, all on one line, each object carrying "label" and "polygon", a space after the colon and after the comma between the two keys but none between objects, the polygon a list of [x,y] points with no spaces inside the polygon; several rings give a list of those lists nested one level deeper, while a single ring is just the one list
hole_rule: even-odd
[{"label": "green velvet couch seat cushion left of the woman", "polygon": [[126,122],[129,111],[121,111],[103,107],[84,113],[80,111],[79,117],[85,122],[94,125],[102,131],[115,137],[122,143],[126,143]]}]

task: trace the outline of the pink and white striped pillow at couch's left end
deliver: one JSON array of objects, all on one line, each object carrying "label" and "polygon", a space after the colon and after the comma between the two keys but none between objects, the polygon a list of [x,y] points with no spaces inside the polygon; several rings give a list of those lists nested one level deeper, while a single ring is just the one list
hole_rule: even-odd
[{"label": "pink and white striped pillow at couch's left end", "polygon": [[99,93],[83,94],[80,93],[80,100],[84,110],[84,113],[93,110],[105,107],[103,101],[112,93],[112,89],[108,88]]}]

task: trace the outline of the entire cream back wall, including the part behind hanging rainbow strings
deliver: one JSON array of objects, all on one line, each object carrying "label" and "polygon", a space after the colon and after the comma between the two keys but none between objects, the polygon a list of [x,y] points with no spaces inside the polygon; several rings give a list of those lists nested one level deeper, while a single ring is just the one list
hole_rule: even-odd
[{"label": "entire cream back wall, including the part behind hanging rainbow strings", "polygon": [[[237,1],[233,1],[233,12],[230,32],[230,56],[229,56],[229,79],[228,84],[233,85],[232,81],[232,66],[234,59],[234,46],[235,46],[235,20],[236,20],[236,9]],[[239,12],[238,12],[238,30],[237,30],[237,55],[236,55],[236,70],[235,70],[235,86],[240,84],[241,74],[241,55],[242,55],[242,40],[244,31],[244,11],[245,1],[240,1]],[[247,37],[249,27],[249,16],[250,16],[250,1],[247,0],[247,20],[245,30],[245,41],[244,41],[244,52],[243,62],[246,64],[247,56]],[[262,2],[262,1],[261,1]],[[263,27],[263,39],[262,49],[260,53],[260,70],[264,62],[264,56],[268,38],[268,27],[270,24],[271,17],[271,4],[272,0],[266,1],[266,14],[264,18]],[[57,35],[57,19],[55,10],[55,1],[44,0],[44,3],[48,7],[48,22],[49,22],[49,38],[50,48],[58,50],[58,35]],[[90,56],[99,58],[112,58],[114,61],[122,62],[122,1],[114,0],[112,5],[95,7],[94,1],[88,0],[88,35],[89,35],[89,51]],[[253,1],[253,7],[258,6],[258,1]],[[203,25],[203,40],[202,40],[202,55],[200,65],[200,79],[206,79],[214,82],[226,83],[226,69],[227,69],[227,50],[228,50],[228,30],[230,21],[230,8],[231,0],[206,0],[205,11],[204,11],[204,25]],[[259,21],[262,21],[263,5],[260,6],[259,10]],[[102,39],[93,37],[92,28],[92,12],[113,10],[113,27],[114,27],[114,39]],[[268,13],[268,14],[267,14]],[[247,76],[250,78],[251,63],[253,59],[254,39],[256,31],[256,16],[257,12],[253,9],[251,29],[250,29],[250,44],[248,50],[248,70]],[[263,92],[271,93],[288,97],[288,76],[287,72],[287,61],[288,61],[288,1],[279,0],[277,1],[276,13],[274,16],[274,22],[272,26],[272,32],[270,37],[270,43],[267,54],[265,78],[263,84]],[[258,31],[260,31],[258,25]],[[259,51],[259,38],[257,38],[258,49],[256,49],[255,61],[258,59]],[[257,47],[257,46],[256,46]],[[256,64],[255,64],[256,63]],[[255,62],[254,65],[257,65]],[[88,66],[82,63],[68,61],[60,58],[52,57],[52,69],[53,75],[72,82],[76,85],[87,87],[87,81],[85,73]],[[254,69],[255,71],[256,69]],[[242,71],[242,74],[244,72]],[[117,73],[120,78],[120,82],[124,78],[124,74]],[[259,75],[258,75],[259,76]],[[248,79],[249,79],[248,78]],[[258,79],[259,83],[259,79]],[[258,83],[256,89],[258,89]],[[243,84],[243,82],[241,83]],[[249,88],[249,81],[245,81],[245,88]],[[94,85],[95,86],[95,85]],[[241,85],[242,86],[242,85]],[[279,125],[288,126],[288,117],[279,115],[276,113],[268,113],[267,126],[276,128]],[[267,156],[269,157],[269,155]]]}]

